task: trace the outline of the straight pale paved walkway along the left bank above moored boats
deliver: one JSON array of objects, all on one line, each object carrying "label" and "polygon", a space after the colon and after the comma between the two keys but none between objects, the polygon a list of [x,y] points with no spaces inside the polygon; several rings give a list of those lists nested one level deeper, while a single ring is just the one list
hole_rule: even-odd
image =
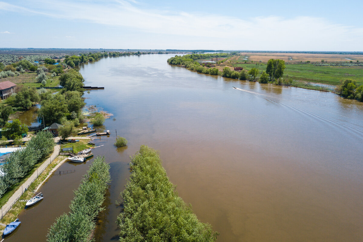
[{"label": "straight pale paved walkway along the left bank above moored boats", "polygon": [[[59,142],[59,138],[54,138],[54,141],[57,143],[56,146],[54,146],[54,151],[52,153],[52,155],[46,159],[46,161],[43,162],[43,164],[40,165],[40,167],[38,167],[38,169],[33,173],[33,175],[31,175],[28,180],[26,180],[23,185],[20,186],[20,188],[18,190],[16,190],[16,192],[9,198],[9,200],[7,201],[7,203],[1,208],[2,212],[3,212],[3,216],[8,212],[9,209],[11,209],[11,207],[14,205],[14,203],[19,199],[19,197],[21,196],[21,194],[23,194],[25,188],[28,188],[30,184],[32,184],[32,182],[38,177],[38,171],[43,171],[49,164],[51,160],[54,160],[58,154],[59,154],[59,149],[60,149],[60,145],[58,144]],[[41,172],[39,172],[40,175]]]}]

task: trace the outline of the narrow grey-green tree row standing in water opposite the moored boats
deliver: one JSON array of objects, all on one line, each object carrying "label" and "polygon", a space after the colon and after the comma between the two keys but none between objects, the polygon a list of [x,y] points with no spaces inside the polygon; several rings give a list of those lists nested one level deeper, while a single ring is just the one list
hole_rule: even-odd
[{"label": "narrow grey-green tree row standing in water opposite the moored boats", "polygon": [[110,183],[110,165],[105,157],[98,156],[90,165],[74,198],[69,205],[70,212],[64,213],[49,229],[48,242],[88,242],[95,229],[95,218],[104,209],[106,190]]}]

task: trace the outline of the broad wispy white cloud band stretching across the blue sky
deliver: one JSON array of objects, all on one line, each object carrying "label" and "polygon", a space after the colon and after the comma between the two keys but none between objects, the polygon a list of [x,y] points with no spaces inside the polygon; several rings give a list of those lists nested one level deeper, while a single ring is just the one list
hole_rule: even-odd
[{"label": "broad wispy white cloud band stretching across the blue sky", "polygon": [[[138,4],[137,7],[134,4]],[[0,2],[0,9],[36,13],[58,19],[113,26],[176,38],[199,38],[211,46],[194,48],[250,50],[363,50],[363,28],[330,22],[318,17],[284,18],[261,16],[252,19],[143,9],[135,0],[84,1],[34,0],[29,7]],[[114,30],[117,31],[117,30]],[[127,33],[127,31],[125,31]],[[215,43],[215,44],[212,44]],[[347,43],[350,43],[347,46]],[[164,42],[164,46],[173,43]],[[141,48],[141,46],[140,46]]]}]

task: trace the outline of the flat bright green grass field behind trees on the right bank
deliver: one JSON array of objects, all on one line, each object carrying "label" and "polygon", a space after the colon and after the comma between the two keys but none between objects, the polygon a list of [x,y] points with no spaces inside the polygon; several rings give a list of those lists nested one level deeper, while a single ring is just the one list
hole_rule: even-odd
[{"label": "flat bright green grass field behind trees on the right bank", "polygon": [[[250,70],[253,67],[260,71],[266,71],[266,65],[257,63],[236,64],[233,66],[243,67]],[[316,82],[327,85],[339,85],[341,80],[353,79],[358,85],[363,85],[363,67],[354,66],[314,66],[313,64],[289,64],[286,65],[284,78],[292,78],[294,81]]]}]

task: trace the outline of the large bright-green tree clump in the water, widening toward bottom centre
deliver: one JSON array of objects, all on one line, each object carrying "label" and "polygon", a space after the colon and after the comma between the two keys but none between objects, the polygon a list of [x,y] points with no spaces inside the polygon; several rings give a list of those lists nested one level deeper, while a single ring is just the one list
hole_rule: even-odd
[{"label": "large bright-green tree clump in the water, widening toward bottom centre", "polygon": [[178,196],[157,151],[141,146],[130,168],[130,180],[121,193],[124,209],[117,218],[121,242],[216,241],[219,233],[200,222],[191,205]]}]

